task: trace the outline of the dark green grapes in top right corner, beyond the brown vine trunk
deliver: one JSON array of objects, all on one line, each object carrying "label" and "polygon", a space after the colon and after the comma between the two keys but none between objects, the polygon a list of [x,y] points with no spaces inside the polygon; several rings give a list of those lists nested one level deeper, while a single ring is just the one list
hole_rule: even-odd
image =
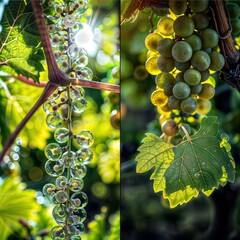
[{"label": "dark green grapes in top right corner, beyond the brown vine trunk", "polygon": [[227,3],[227,10],[230,17],[232,27],[232,34],[240,34],[240,3],[239,1],[229,1]]}]

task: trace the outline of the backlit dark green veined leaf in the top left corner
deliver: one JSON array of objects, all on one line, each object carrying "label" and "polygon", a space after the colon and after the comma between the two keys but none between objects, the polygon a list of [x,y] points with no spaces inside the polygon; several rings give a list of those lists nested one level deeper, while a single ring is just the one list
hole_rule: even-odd
[{"label": "backlit dark green veined leaf in the top left corner", "polygon": [[1,71],[38,82],[44,54],[30,1],[9,1],[1,24]]}]

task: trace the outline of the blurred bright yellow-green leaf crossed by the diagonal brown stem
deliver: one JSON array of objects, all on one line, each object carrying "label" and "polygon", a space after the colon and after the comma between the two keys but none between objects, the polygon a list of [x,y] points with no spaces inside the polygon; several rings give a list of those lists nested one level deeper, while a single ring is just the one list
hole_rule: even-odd
[{"label": "blurred bright yellow-green leaf crossed by the diagonal brown stem", "polygon": [[[26,86],[26,84],[13,79],[0,81],[2,142],[6,142],[9,133],[13,132],[26,116],[43,91],[41,88]],[[29,143],[32,147],[44,148],[49,137],[49,128],[45,123],[45,117],[42,108],[39,109],[21,131],[19,136],[25,145]]]}]

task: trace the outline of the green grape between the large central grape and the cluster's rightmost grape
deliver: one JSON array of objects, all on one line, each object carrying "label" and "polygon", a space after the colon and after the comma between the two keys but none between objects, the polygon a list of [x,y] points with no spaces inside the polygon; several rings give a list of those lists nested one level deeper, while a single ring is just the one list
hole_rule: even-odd
[{"label": "green grape between the large central grape and the cluster's rightmost grape", "polygon": [[204,51],[197,51],[193,53],[191,63],[196,70],[205,71],[210,66],[210,57]]}]

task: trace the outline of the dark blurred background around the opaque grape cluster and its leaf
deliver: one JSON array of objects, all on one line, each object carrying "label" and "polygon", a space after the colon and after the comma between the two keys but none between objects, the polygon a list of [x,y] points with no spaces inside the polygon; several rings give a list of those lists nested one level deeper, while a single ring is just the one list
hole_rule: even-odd
[{"label": "dark blurred background around the opaque grape cluster and its leaf", "polygon": [[[122,1],[122,12],[126,3]],[[150,101],[155,77],[144,68],[149,16],[150,9],[144,9],[134,22],[121,26],[121,239],[240,239],[240,94],[218,76],[208,115],[217,116],[220,131],[229,135],[236,163],[235,183],[220,187],[209,198],[200,194],[170,209],[162,193],[154,193],[151,171],[136,174],[135,158],[145,133],[161,133],[159,114]],[[153,23],[158,19],[153,18]],[[239,38],[235,40],[239,43]]]}]

